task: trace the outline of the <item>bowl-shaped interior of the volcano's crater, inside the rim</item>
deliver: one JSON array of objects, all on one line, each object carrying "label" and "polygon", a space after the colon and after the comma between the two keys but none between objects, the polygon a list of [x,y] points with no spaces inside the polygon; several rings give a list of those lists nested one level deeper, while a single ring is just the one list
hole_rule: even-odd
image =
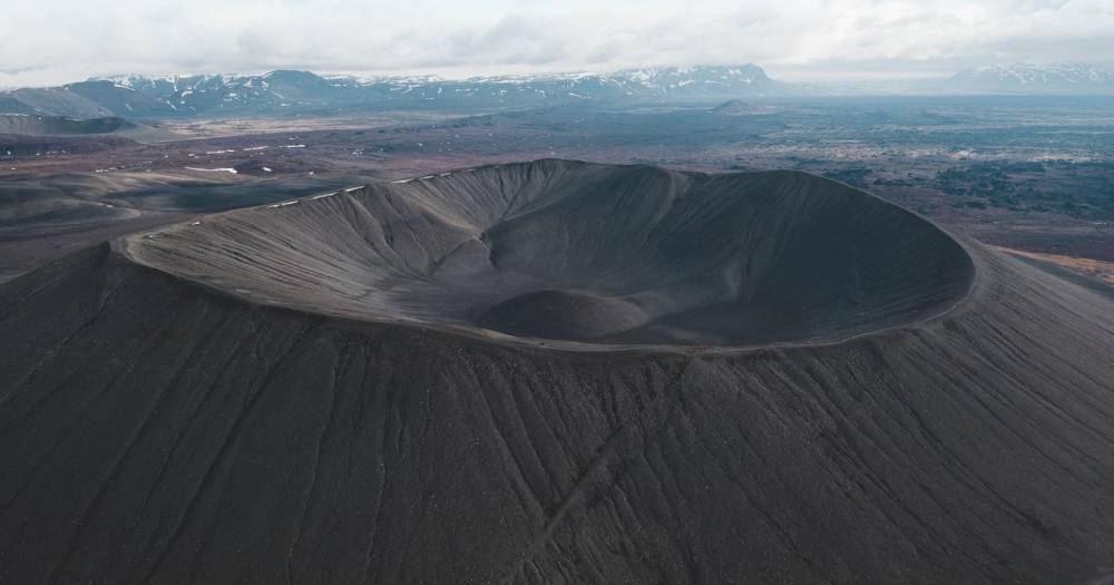
[{"label": "bowl-shaped interior of the volcano's crater, inside the rim", "polygon": [[974,271],[932,224],[813,175],[565,160],[231,212],[127,252],[267,304],[618,344],[842,339],[944,310]]}]

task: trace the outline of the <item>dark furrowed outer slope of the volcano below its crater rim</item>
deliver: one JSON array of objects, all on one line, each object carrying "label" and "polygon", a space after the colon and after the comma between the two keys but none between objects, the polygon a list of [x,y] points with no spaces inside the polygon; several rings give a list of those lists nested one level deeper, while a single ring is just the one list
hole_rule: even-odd
[{"label": "dark furrowed outer slope of the volcano below its crater rim", "polygon": [[976,244],[938,312],[736,349],[345,319],[137,250],[0,289],[0,582],[1114,572],[1114,305]]}]

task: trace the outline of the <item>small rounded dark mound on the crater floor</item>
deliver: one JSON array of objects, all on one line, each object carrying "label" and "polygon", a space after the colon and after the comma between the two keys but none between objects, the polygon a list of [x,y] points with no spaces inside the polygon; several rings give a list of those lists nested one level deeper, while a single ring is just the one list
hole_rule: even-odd
[{"label": "small rounded dark mound on the crater floor", "polygon": [[634,303],[571,291],[535,291],[507,299],[477,323],[525,338],[592,340],[632,330],[648,320]]}]

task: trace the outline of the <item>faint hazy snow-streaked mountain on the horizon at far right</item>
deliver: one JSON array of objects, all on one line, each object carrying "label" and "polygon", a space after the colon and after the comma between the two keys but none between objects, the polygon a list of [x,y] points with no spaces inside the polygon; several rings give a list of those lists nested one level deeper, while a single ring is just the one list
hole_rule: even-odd
[{"label": "faint hazy snow-streaked mountain on the horizon at far right", "polygon": [[946,89],[981,94],[1108,94],[1114,69],[1087,64],[989,65],[960,71]]}]

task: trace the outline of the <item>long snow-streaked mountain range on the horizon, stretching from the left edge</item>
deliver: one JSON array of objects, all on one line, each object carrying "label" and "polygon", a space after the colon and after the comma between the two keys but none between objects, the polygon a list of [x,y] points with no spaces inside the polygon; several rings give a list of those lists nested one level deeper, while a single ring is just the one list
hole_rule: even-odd
[{"label": "long snow-streaked mountain range on the horizon, stretching from the left edge", "polygon": [[585,100],[638,101],[783,94],[786,84],[752,64],[664,67],[614,74],[360,79],[280,70],[255,76],[117,76],[0,92],[0,113],[157,118],[284,110],[526,107]]}]

